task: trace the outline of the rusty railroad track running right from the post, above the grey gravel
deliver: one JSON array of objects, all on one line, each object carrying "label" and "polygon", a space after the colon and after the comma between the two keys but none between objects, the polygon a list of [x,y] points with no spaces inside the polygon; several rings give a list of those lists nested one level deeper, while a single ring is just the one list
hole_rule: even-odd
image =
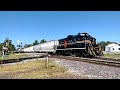
[{"label": "rusty railroad track running right from the post, above the grey gravel", "polygon": [[100,58],[100,57],[99,58],[80,58],[80,57],[58,56],[58,55],[52,55],[50,57],[120,67],[120,59],[113,59],[113,58],[107,59],[107,58]]}]

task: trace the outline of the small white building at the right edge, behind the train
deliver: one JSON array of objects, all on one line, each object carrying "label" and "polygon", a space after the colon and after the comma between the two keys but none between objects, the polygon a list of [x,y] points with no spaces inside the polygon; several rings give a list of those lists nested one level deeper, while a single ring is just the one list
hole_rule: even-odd
[{"label": "small white building at the right edge, behind the train", "polygon": [[120,46],[112,43],[105,47],[105,51],[108,53],[120,53]]}]

